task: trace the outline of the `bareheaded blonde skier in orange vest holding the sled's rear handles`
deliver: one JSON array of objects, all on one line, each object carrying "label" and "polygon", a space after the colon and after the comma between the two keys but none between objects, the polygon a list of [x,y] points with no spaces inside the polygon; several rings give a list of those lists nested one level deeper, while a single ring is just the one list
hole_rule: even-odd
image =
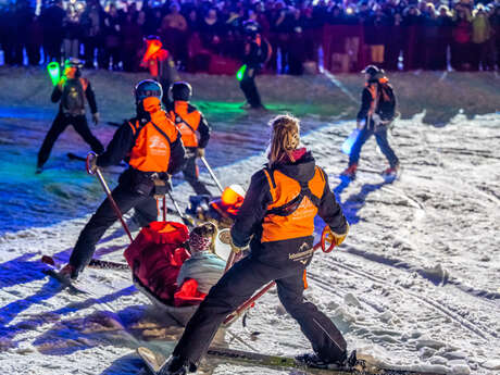
[{"label": "bareheaded blonde skier in orange vest holding the sled's rear handles", "polygon": [[225,317],[272,280],[314,349],[314,354],[300,355],[299,361],[325,367],[355,361],[355,352],[348,355],[347,342],[334,323],[303,298],[305,267],[314,252],[314,217],[325,221],[336,245],[346,238],[349,224],[325,172],[311,152],[299,148],[299,121],[282,115],[272,121],[272,127],[268,164],[253,174],[230,230],[235,246],[250,243],[250,254],[210,289],[159,374],[196,370]]}]

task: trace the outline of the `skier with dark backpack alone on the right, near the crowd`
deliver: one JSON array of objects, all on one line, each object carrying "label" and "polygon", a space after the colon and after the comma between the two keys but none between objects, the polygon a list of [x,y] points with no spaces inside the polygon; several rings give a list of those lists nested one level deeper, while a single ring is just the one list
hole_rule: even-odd
[{"label": "skier with dark backpack alone on the right, near the crowd", "polygon": [[396,115],[396,97],[392,86],[389,85],[389,79],[384,71],[375,65],[366,66],[361,73],[365,74],[366,85],[363,89],[361,108],[357,117],[360,134],[352,145],[349,165],[342,175],[351,179],[355,178],[361,148],[371,136],[375,136],[380,151],[389,162],[389,167],[383,172],[383,175],[393,178],[399,171],[399,160],[387,139],[388,126]]}]

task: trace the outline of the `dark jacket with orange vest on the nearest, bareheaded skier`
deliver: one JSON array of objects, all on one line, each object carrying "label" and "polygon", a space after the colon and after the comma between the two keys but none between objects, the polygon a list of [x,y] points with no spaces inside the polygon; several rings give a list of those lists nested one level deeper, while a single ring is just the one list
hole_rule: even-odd
[{"label": "dark jacket with orange vest on the nearest, bareheaded skier", "polygon": [[347,230],[346,217],[328,187],[328,178],[315,165],[312,154],[305,152],[295,160],[253,174],[230,229],[237,247],[247,246],[253,238],[252,252],[295,251],[304,237],[312,242],[316,214],[333,232]]}]

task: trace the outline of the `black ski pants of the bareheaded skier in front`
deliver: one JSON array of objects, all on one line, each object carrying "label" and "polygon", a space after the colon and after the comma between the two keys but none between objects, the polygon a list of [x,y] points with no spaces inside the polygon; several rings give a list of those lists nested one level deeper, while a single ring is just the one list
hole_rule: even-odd
[{"label": "black ski pants of the bareheaded skier in front", "polygon": [[327,361],[343,360],[347,357],[347,342],[341,333],[303,297],[303,266],[284,264],[279,267],[263,263],[252,254],[243,258],[210,289],[187,324],[173,354],[197,364],[225,317],[260,287],[276,280],[279,300],[299,323],[314,351]]}]

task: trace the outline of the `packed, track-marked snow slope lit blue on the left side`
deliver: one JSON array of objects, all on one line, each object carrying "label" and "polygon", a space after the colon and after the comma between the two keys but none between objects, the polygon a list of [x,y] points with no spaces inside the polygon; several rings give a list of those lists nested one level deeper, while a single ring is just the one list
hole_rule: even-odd
[{"label": "packed, track-marked snow slope lit blue on the left side", "polygon": [[[42,254],[67,261],[79,232],[104,195],[82,162],[65,157],[68,151],[87,152],[73,129],[55,145],[47,170],[34,174],[36,152],[55,113],[48,104],[48,78],[33,71],[7,73],[1,75],[2,86],[10,83],[8,75],[15,74],[32,74],[35,84],[12,89],[13,99],[0,98],[0,368],[3,374],[146,373],[134,350],[149,345],[162,348],[167,355],[182,329],[151,308],[133,286],[129,273],[86,270],[79,285],[90,296],[61,291],[58,283],[42,273]],[[396,79],[407,77],[418,78],[400,75],[393,79],[395,86]],[[132,115],[129,88],[120,99],[114,92],[115,76],[101,73],[97,78],[103,82],[95,86],[104,122],[122,122]],[[271,83],[264,78],[260,83],[270,90],[273,83],[287,88],[295,83],[307,86],[298,78],[266,77]],[[328,173],[330,188],[351,223],[345,245],[330,254],[316,253],[308,271],[305,293],[345,333],[350,349],[401,368],[500,373],[500,114],[488,107],[492,104],[485,104],[489,113],[477,109],[480,114],[474,115],[457,108],[450,114],[442,107],[443,114],[437,115],[438,105],[429,103],[435,120],[430,123],[440,126],[429,125],[425,105],[421,112],[402,110],[390,138],[401,160],[400,178],[390,184],[380,177],[378,172],[387,165],[372,139],[363,149],[358,178],[349,183],[339,178],[347,164],[340,147],[354,126],[357,103],[342,90],[357,97],[360,77],[340,77],[338,82],[346,85],[342,89],[328,84],[327,78],[313,78],[318,83],[310,85],[350,102],[348,115],[325,112],[326,102],[314,107],[315,102],[305,99],[307,103],[300,104],[295,92],[284,95],[279,102],[270,98],[270,112],[247,113],[238,109],[240,103],[204,97],[210,89],[203,79],[213,78],[189,79],[195,83],[195,95],[197,85],[200,87],[201,96],[195,99],[213,125],[207,158],[223,185],[247,187],[251,174],[265,162],[268,120],[285,110],[300,114],[302,141]],[[439,79],[446,89],[442,92],[449,95],[446,85],[452,78]],[[464,79],[476,83],[470,75],[453,83]],[[487,80],[477,78],[480,85]],[[218,87],[225,85],[233,101],[241,100],[234,82],[221,82]],[[489,82],[485,97],[498,99],[500,91],[491,89],[499,88],[498,78],[491,74]],[[118,80],[116,85],[125,86]],[[401,87],[402,103],[416,96],[409,90]],[[433,95],[437,98],[439,92]],[[463,101],[464,107],[478,105]],[[346,120],[349,116],[351,120]],[[115,128],[101,125],[92,130],[107,142]],[[111,185],[121,171],[118,166],[105,171]],[[208,173],[201,171],[201,178],[210,183]],[[192,191],[180,178],[175,185],[174,195],[184,208]],[[213,184],[209,188],[217,192]],[[320,233],[322,223],[317,224]],[[96,257],[123,262],[127,243],[116,224],[99,243]],[[247,323],[250,332],[260,332],[259,338],[251,340],[237,323],[225,335],[229,347],[251,350],[250,346],[287,355],[310,350],[274,290],[252,309]],[[234,335],[247,343],[235,340]],[[209,361],[200,373],[289,372]]]}]

